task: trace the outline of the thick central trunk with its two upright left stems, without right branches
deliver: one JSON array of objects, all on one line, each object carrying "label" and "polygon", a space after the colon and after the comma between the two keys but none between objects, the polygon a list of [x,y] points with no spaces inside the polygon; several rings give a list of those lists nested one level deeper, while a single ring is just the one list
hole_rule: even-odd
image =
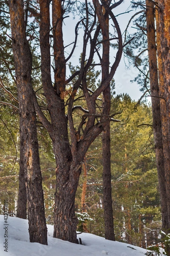
[{"label": "thick central trunk with its two upright left stems, without right branches", "polygon": [[67,130],[68,124],[64,108],[65,58],[62,41],[62,3],[60,0],[54,0],[52,9],[54,59],[56,67],[54,87],[51,82],[49,3],[48,0],[40,0],[40,48],[42,84],[51,116],[51,123],[47,120],[44,122],[44,117],[42,117],[42,122],[44,122],[51,136],[57,165],[54,237],[76,243],[77,217],[74,213],[74,201],[80,167],[76,170],[77,164],[74,164],[75,162],[71,154]]}]

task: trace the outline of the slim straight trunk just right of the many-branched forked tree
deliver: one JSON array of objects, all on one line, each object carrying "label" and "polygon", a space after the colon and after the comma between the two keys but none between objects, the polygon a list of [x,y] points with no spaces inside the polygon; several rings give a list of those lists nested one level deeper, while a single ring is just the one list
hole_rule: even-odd
[{"label": "slim straight trunk just right of the many-branched forked tree", "polygon": [[[102,28],[103,55],[102,55],[102,81],[109,75],[109,16],[105,9],[105,26]],[[98,14],[99,16],[100,14]],[[104,114],[108,116],[105,124],[105,131],[102,133],[102,164],[103,164],[103,207],[105,218],[105,239],[115,241],[113,225],[112,188],[111,188],[111,138],[110,138],[110,110],[111,90],[110,84],[103,91]]]}]

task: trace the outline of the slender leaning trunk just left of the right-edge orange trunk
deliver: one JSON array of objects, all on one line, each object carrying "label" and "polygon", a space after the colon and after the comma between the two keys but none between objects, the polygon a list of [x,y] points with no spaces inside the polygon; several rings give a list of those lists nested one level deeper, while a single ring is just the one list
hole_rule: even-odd
[{"label": "slender leaning trunk just left of the right-edge orange trunk", "polygon": [[154,3],[146,0],[147,12],[147,44],[150,70],[150,93],[153,113],[153,134],[155,141],[156,162],[159,178],[159,190],[161,198],[162,225],[165,230],[168,228],[167,193],[164,169],[164,150],[162,140],[161,108],[159,98],[159,80],[156,56],[156,37],[154,20]]}]

